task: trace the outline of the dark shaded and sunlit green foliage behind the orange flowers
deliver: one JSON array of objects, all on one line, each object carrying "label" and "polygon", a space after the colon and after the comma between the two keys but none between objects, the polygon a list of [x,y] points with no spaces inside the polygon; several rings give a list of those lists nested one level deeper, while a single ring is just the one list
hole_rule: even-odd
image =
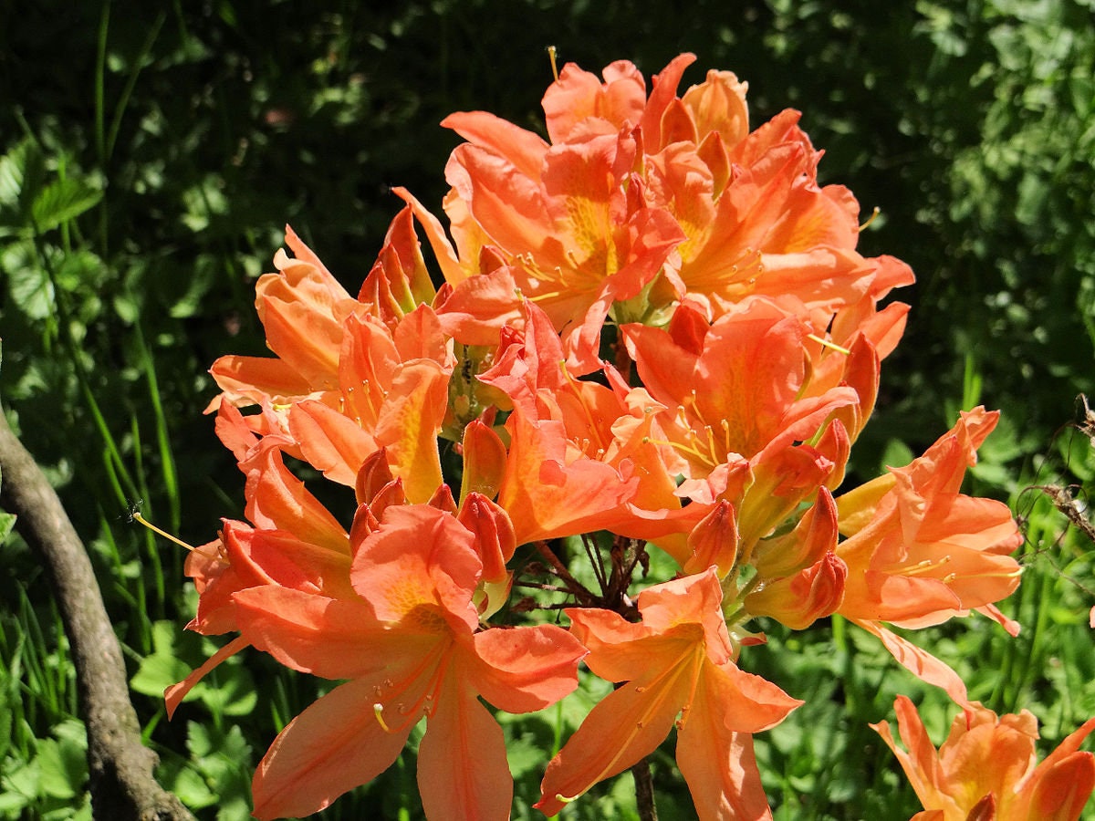
[{"label": "dark shaded and sunlit green foliage behind the orange flowers", "polygon": [[[551,80],[544,47],[649,76],[690,50],[749,81],[753,123],[785,106],[849,185],[867,255],[908,261],[918,285],[887,360],[861,476],[907,461],[959,407],[1004,424],[977,490],[1028,522],[1016,641],[987,623],[918,640],[975,697],[1027,707],[1054,741],[1095,714],[1084,609],[1091,545],[1031,484],[1093,479],[1073,397],[1095,379],[1095,27],[1092,0],[408,0],[15,3],[0,0],[0,394],[90,545],[164,780],[208,817],[246,814],[277,729],[323,683],[257,654],[218,670],[170,725],[160,694],[214,646],[181,629],[194,601],[182,556],[127,522],[129,506],[199,544],[242,514],[242,482],[201,410],[206,368],[261,354],[254,278],[288,221],[356,292],[405,185],[436,207],[457,138],[448,113],[483,108],[530,128]],[[1079,509],[1079,508],[1077,508]],[[0,536],[5,535],[0,533]],[[90,818],[66,643],[39,563],[18,537],[0,564],[0,818]],[[1084,590],[1085,586],[1087,590]],[[953,710],[839,622],[784,635],[744,664],[807,698],[759,755],[777,818],[900,818],[915,808],[865,722],[896,692]],[[255,682],[263,682],[256,694]],[[588,706],[588,705],[587,705]],[[538,747],[580,719],[507,724],[518,813]],[[573,715],[570,715],[573,714]],[[11,739],[8,741],[8,739]],[[662,818],[689,814],[672,759],[655,761]],[[328,811],[415,817],[414,762]],[[575,818],[632,812],[627,778]],[[523,803],[522,803],[523,802]],[[206,809],[204,809],[206,808]]]}]

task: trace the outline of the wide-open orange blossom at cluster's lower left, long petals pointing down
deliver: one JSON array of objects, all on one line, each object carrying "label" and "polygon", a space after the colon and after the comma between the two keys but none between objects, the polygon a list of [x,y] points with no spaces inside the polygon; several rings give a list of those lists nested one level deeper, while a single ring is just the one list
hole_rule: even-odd
[{"label": "wide-open orange blossom at cluster's lower left, long petals pointing down", "polygon": [[425,505],[394,506],[357,548],[356,597],[286,587],[233,595],[240,629],[296,670],[348,679],[281,731],[255,773],[257,818],[304,816],[387,770],[424,717],[429,818],[506,819],[502,728],[480,703],[527,713],[577,684],[585,649],[553,625],[480,629],[476,535]]}]

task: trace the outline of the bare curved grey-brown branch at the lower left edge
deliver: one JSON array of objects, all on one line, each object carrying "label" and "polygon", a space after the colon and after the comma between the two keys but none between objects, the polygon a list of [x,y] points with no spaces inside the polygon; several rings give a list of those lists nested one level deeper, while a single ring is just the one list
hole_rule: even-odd
[{"label": "bare curved grey-brown branch at the lower left edge", "polygon": [[193,816],[152,777],[155,754],[141,743],[122,649],[83,543],[42,470],[0,413],[0,504],[45,562],[76,664],[88,729],[95,818],[168,821]]}]

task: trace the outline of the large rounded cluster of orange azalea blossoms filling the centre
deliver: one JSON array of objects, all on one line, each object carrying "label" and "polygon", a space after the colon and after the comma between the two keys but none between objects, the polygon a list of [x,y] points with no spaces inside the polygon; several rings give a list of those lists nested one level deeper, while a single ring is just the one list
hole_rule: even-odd
[{"label": "large rounded cluster of orange azalea blossoms filling the centre", "polygon": [[[818,184],[796,112],[750,130],[725,71],[679,94],[693,59],[649,89],[630,62],[566,66],[546,140],[452,115],[466,142],[446,167],[447,226],[396,189],[406,207],[356,297],[292,231],[293,255],[258,280],[274,357],[211,370],[247,522],[224,521],[187,567],[189,626],[239,635],[168,693],[174,710],[246,646],[344,682],[266,753],[258,818],[326,807],[425,718],[427,816],[504,819],[511,778],[483,702],[540,709],[579,662],[618,686],[548,765],[544,813],[676,727],[699,816],[762,818],[752,733],[800,702],[738,667],[763,641],[751,620],[840,614],[963,705],[958,677],[886,625],[977,611],[1017,631],[994,602],[1018,585],[1018,530],[960,493],[996,414],[964,413],[834,498],[903,331],[908,307],[880,303],[912,274],[856,251],[858,205]],[[344,486],[345,511],[290,464]],[[548,544],[574,536],[596,589]],[[648,550],[672,578],[633,578]],[[515,594],[530,587],[539,599]],[[568,628],[514,626],[552,590]]]}]

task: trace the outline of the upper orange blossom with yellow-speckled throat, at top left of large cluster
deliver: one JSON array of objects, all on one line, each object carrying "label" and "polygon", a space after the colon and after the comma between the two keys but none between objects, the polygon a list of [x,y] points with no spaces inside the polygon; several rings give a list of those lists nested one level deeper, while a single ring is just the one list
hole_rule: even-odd
[{"label": "upper orange blossom with yellow-speckled throat, at top left of large cluster", "polygon": [[[552,146],[485,112],[453,114],[442,125],[469,140],[446,166],[452,193],[445,208],[460,258],[474,264],[457,275],[462,281],[447,279],[458,292],[476,287],[466,276],[482,276],[488,247],[506,264],[494,276],[511,281],[562,332],[570,368],[596,368],[613,303],[638,297],[684,239],[668,211],[633,190],[636,124],[579,129]],[[441,239],[430,236],[435,245]]]}]

